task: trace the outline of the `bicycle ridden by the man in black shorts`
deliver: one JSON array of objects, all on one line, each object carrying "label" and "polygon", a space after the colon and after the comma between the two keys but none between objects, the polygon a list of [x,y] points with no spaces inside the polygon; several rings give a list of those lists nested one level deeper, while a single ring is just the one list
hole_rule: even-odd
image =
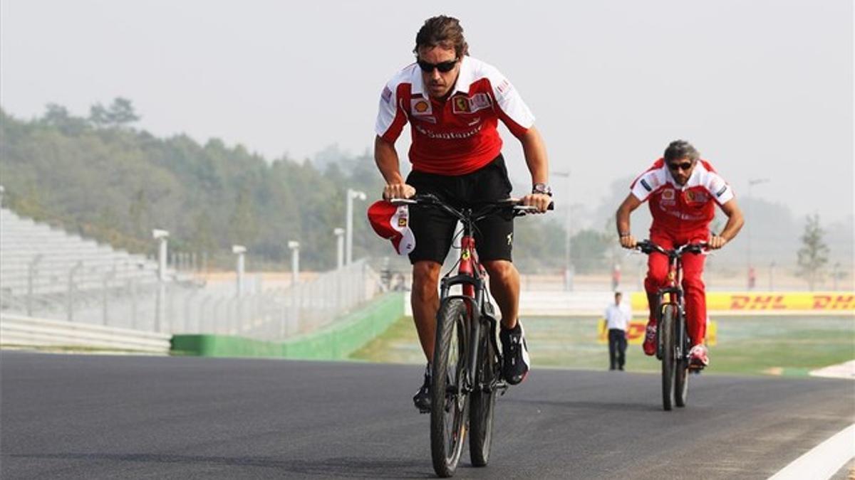
[{"label": "bicycle ridden by the man in black shorts", "polygon": [[[451,274],[452,268],[439,284],[431,365],[433,470],[439,477],[451,477],[463,454],[467,427],[472,465],[487,464],[496,394],[504,395],[508,389],[508,383],[502,378],[502,356],[496,340],[498,321],[486,290],[486,270],[475,250],[475,223],[491,214],[522,216],[536,212],[537,208],[508,199],[458,209],[433,195],[416,195],[392,202],[440,208],[463,224],[457,274]],[[462,287],[462,295],[451,295],[451,289],[457,285]]]}]

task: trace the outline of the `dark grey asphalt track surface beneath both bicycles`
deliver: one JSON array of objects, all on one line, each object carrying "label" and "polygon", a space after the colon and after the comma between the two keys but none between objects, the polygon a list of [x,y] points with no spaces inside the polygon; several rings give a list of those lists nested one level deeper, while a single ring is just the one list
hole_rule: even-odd
[{"label": "dark grey asphalt track surface beneath both bicycles", "polygon": [[[422,368],[0,354],[0,477],[426,478]],[[534,370],[498,400],[492,459],[461,478],[767,478],[855,422],[855,383]]]}]

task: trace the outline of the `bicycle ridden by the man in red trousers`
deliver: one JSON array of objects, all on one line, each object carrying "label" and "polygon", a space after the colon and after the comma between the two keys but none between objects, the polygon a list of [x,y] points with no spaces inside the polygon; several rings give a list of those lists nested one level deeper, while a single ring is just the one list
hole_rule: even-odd
[{"label": "bicycle ridden by the man in red trousers", "polygon": [[[669,260],[668,285],[657,291],[656,358],[662,360],[662,404],[666,411],[673,406],[686,407],[689,394],[688,372],[699,373],[702,367],[689,362],[689,337],[686,331],[686,306],[683,297],[682,255],[704,255],[706,243],[687,243],[676,249],[663,249],[650,240],[636,246],[647,255],[658,252]],[[668,296],[668,301],[663,301]]]}]

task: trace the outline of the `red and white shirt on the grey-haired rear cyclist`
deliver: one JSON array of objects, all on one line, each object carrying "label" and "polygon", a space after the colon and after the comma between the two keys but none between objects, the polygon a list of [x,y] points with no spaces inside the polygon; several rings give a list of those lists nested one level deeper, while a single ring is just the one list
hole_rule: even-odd
[{"label": "red and white shirt on the grey-haired rear cyclist", "polygon": [[734,190],[705,160],[698,161],[686,184],[680,186],[660,158],[629,188],[641,202],[650,202],[651,231],[666,232],[683,242],[706,237],[715,205],[734,198]]}]

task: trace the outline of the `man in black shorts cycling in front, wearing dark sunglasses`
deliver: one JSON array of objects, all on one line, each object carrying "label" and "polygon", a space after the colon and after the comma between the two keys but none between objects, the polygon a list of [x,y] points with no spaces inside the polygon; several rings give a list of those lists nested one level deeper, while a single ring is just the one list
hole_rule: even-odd
[{"label": "man in black shorts cycling in front, wearing dark sunglasses", "polygon": [[[545,212],[551,200],[546,149],[534,128],[534,116],[514,86],[495,67],[469,56],[463,28],[455,18],[440,15],[426,20],[416,34],[413,52],[416,62],[396,74],[380,95],[374,161],[386,180],[383,197],[409,198],[417,191],[457,206],[508,198],[511,184],[497,130],[498,120],[502,120],[522,143],[532,175],[532,194],[522,201]],[[412,137],[412,172],[404,181],[395,141],[407,122]],[[439,273],[457,220],[430,208],[412,208],[409,215],[415,237],[410,252],[410,301],[419,341],[428,358],[424,383],[413,401],[420,411],[428,412]],[[481,262],[502,312],[499,337],[503,375],[508,383],[520,383],[528,373],[529,362],[517,319],[520,278],[510,255],[513,220],[495,214],[476,226]]]}]

